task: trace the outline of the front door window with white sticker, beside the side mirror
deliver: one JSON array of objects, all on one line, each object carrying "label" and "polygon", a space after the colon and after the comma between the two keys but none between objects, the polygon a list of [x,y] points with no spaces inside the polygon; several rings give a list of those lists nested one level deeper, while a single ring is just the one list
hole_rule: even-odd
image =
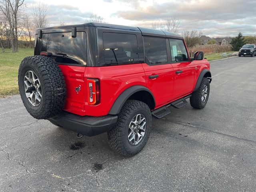
[{"label": "front door window with white sticker, beside the side mirror", "polygon": [[184,42],[179,39],[169,39],[172,62],[188,61],[188,53]]}]

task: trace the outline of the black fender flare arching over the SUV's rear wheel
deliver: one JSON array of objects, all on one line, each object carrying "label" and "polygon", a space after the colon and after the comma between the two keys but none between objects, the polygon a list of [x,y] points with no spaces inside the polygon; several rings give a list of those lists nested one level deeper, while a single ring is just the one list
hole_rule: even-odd
[{"label": "black fender flare arching over the SUV's rear wheel", "polygon": [[138,92],[138,91],[146,91],[146,92],[149,92],[151,94],[151,96],[153,97],[154,99],[154,105],[156,105],[156,100],[154,98],[154,95],[152,94],[152,92],[144,87],[144,86],[141,86],[141,85],[135,85],[135,86],[132,86],[132,87],[129,87],[127,88],[126,90],[124,90],[119,96],[118,98],[116,99],[116,101],[114,102],[114,104],[112,105],[110,111],[108,114],[111,114],[111,115],[116,115],[120,112],[122,106],[124,105],[124,103],[128,100],[128,98],[130,96],[132,96],[132,94]]}]

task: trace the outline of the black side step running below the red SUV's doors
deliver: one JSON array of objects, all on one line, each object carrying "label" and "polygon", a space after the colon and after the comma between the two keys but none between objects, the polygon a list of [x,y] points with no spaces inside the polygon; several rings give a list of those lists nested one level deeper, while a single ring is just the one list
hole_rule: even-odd
[{"label": "black side step running below the red SUV's doors", "polygon": [[188,96],[186,96],[184,98],[181,98],[179,100],[176,100],[176,101],[174,101],[174,102],[172,102],[172,103],[170,103],[166,106],[162,106],[162,107],[152,111],[151,114],[154,118],[157,118],[157,119],[163,118],[164,116],[171,113],[170,110],[168,109],[168,107],[172,106],[174,108],[179,109],[179,108],[185,106],[186,104],[188,104],[186,99],[190,98],[190,97],[191,97],[191,95],[188,95]]}]

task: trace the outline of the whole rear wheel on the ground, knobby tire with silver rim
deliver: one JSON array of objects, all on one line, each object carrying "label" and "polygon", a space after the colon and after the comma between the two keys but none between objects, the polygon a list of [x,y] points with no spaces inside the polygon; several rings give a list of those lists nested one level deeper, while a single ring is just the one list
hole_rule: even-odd
[{"label": "whole rear wheel on the ground, knobby tire with silver rim", "polygon": [[134,156],[146,145],[151,128],[152,116],[148,105],[128,100],[118,114],[116,126],[108,131],[109,145],[122,156]]}]

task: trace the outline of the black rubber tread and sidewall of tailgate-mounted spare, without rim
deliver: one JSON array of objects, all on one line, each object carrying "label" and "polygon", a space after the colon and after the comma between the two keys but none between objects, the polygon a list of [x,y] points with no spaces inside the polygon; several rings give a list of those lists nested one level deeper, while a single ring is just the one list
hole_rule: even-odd
[{"label": "black rubber tread and sidewall of tailgate-mounted spare, without rim", "polygon": [[[64,75],[62,74],[60,67],[52,58],[47,56],[29,56],[22,60],[19,68],[19,76],[22,67],[30,64],[35,69],[41,80],[41,86],[43,86],[43,102],[44,106],[40,112],[33,112],[30,106],[27,106],[24,101],[26,110],[36,119],[47,119],[57,115],[62,111],[66,102],[66,83]],[[20,78],[19,79],[19,85]],[[20,87],[20,86],[19,86]],[[20,92],[24,90],[20,90]]]}]

